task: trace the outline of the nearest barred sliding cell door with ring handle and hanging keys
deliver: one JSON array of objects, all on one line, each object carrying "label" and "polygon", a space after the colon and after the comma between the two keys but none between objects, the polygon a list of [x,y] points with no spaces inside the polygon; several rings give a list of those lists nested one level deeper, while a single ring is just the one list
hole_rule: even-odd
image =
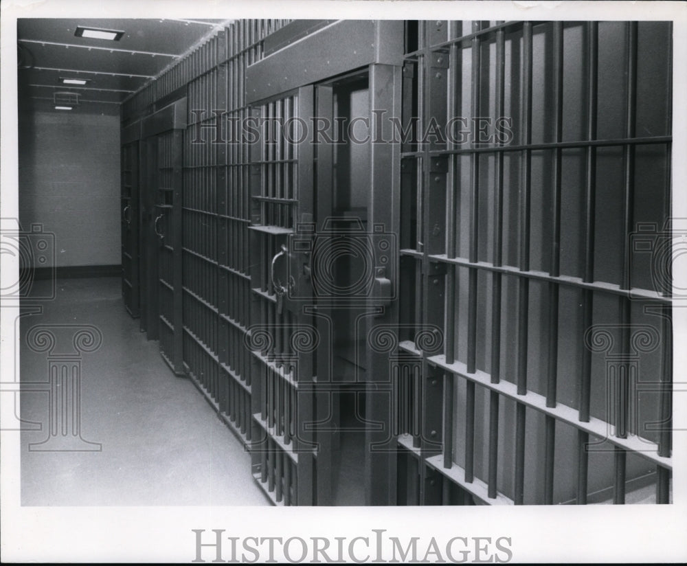
[{"label": "nearest barred sliding cell door with ring handle and hanging keys", "polygon": [[[308,122],[312,114],[312,86],[251,106],[255,124]],[[278,124],[273,133],[261,131],[250,148],[251,453],[254,477],[275,503],[312,505],[319,337],[311,288],[291,269],[289,247],[313,222],[313,147],[295,143]]]}]

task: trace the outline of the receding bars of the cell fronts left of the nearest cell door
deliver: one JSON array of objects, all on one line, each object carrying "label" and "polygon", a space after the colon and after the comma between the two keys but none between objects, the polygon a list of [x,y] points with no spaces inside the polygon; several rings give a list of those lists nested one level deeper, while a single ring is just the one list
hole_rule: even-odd
[{"label": "receding bars of the cell fronts left of the nearest cell door", "polygon": [[[164,133],[158,141],[155,216],[159,216],[156,229],[163,234],[160,348],[170,365],[174,366],[175,354],[182,356],[183,370],[248,443],[252,437],[252,355],[246,346],[251,326],[249,150],[231,137],[227,124],[247,117],[245,69],[262,58],[264,38],[286,23],[275,19],[232,23],[122,105],[122,124],[128,124],[168,104],[172,93],[187,98],[183,168],[174,166],[173,144],[180,134]],[[180,184],[177,175],[183,175],[180,203],[174,198],[174,187]],[[180,216],[175,216],[176,207]],[[181,250],[174,247],[172,234],[181,235]],[[175,282],[174,258],[179,253],[181,281]],[[179,305],[181,328],[174,324]],[[290,501],[292,490],[280,490]]]}]

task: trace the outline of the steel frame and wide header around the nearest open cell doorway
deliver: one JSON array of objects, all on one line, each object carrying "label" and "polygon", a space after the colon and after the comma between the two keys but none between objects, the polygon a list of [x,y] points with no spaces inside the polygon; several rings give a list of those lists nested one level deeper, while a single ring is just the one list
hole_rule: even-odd
[{"label": "steel frame and wide header around the nearest open cell doorway", "polygon": [[[337,21],[296,43],[280,49],[247,69],[247,102],[269,100],[280,93],[306,85],[317,85],[335,78],[342,73],[356,69],[368,69],[370,110],[387,109],[388,115],[401,116],[401,79],[403,71],[403,21]],[[284,28],[286,30],[286,28]],[[341,45],[359,45],[359,49],[340,49]],[[322,90],[324,93],[324,90]],[[326,104],[323,97],[313,101],[313,111],[321,111]],[[382,124],[382,139],[392,139],[392,123]],[[317,168],[313,177],[322,182],[329,174],[329,165],[323,165],[330,150],[326,146],[315,145]],[[368,226],[379,224],[387,231],[398,234],[400,223],[400,182],[401,146],[400,144],[370,144],[370,201],[368,202]],[[329,163],[331,163],[329,161]],[[318,208],[319,191],[317,194]],[[313,211],[315,212],[315,211]],[[319,211],[318,211],[319,212]],[[395,273],[398,273],[399,256]],[[392,297],[398,289],[398,281],[392,281]],[[395,289],[395,290],[394,290]],[[383,304],[381,304],[383,303]],[[372,328],[384,326],[397,332],[398,304],[396,300],[381,301],[372,295],[368,299],[368,309],[376,311],[374,317],[362,321],[367,335]],[[321,374],[322,356],[318,352],[317,382],[327,381],[328,376]],[[376,352],[371,348],[365,354],[368,378],[365,387],[365,420],[373,423],[366,432],[365,451],[365,504],[393,505],[396,503],[396,438],[392,430],[392,382],[390,379],[389,352]],[[325,400],[322,398],[324,397]],[[317,396],[316,414],[326,414],[322,403],[328,403],[327,396]],[[318,419],[319,420],[319,419]],[[324,441],[321,449],[331,447],[330,438],[320,432],[318,440]],[[372,447],[372,450],[370,450]],[[330,501],[330,486],[322,483],[330,481],[332,460],[328,457],[315,459],[315,477],[320,478],[315,490],[317,503]]]}]

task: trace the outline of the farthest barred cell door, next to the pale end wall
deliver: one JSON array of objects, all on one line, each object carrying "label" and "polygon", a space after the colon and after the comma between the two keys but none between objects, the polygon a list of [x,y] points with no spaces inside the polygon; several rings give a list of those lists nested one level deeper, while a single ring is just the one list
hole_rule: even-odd
[{"label": "farthest barred cell door, next to the pale end wall", "polygon": [[138,141],[122,145],[122,295],[132,317],[139,316]]}]

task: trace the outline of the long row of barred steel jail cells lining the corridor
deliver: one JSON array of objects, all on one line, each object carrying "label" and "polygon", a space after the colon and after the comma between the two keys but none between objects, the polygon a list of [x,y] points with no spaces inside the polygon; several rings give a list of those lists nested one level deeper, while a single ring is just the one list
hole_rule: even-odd
[{"label": "long row of barred steel jail cells lining the corridor", "polygon": [[[399,244],[390,298],[356,307],[396,337],[359,356],[356,403],[383,427],[365,442],[392,438],[365,453],[369,501],[624,503],[652,483],[670,501],[670,282],[652,271],[671,234],[671,60],[653,56],[670,24],[286,24],[228,25],[122,111],[142,124],[139,256],[157,262],[159,321],[144,328],[142,300],[142,328],[251,450],[258,485],[278,505],[330,501],[341,463],[322,422],[339,416],[322,401],[343,350],[294,241],[355,212]],[[339,60],[285,71],[295,88],[262,65],[328,41]],[[289,141],[293,119],[373,109],[401,116],[399,143]]]}]

